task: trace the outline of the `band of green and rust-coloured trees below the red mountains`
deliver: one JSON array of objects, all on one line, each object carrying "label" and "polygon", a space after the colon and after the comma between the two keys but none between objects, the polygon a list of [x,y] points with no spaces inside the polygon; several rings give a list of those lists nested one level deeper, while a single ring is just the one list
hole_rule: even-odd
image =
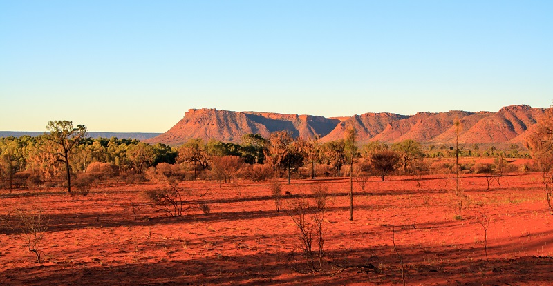
[{"label": "band of green and rust-coloured trees below the red mountains", "polygon": [[[11,190],[21,186],[64,185],[69,181],[60,145],[49,136],[0,139],[0,187]],[[242,177],[262,181],[274,174],[288,178],[348,176],[351,168],[346,148],[345,139],[321,143],[317,137],[293,138],[289,132],[274,132],[268,139],[259,134],[246,134],[240,144],[190,139],[180,147],[162,143],[149,145],[115,137],[84,138],[72,147],[67,162],[71,174],[77,175],[74,182],[77,185],[91,181],[91,176],[118,178],[127,182],[144,180],[149,168],[161,163],[178,166],[189,179],[210,178],[228,182]],[[509,150],[496,150],[494,147],[478,150],[478,145],[456,150],[446,145],[422,147],[413,140],[391,145],[375,141],[355,147],[353,172],[356,176],[375,175],[382,180],[393,172],[430,172],[433,166],[423,158],[455,157],[456,152],[459,156],[527,156],[518,152],[516,145]],[[479,167],[479,170],[494,169],[494,166],[486,167]],[[441,168],[453,170],[454,166],[442,164]],[[471,170],[474,166],[465,166],[465,170],[467,168]],[[479,171],[474,169],[471,172]]]}]

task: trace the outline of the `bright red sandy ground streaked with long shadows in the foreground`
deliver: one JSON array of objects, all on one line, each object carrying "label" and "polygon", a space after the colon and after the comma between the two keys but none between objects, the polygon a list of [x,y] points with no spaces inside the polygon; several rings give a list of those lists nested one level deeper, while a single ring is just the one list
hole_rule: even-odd
[{"label": "bright red sandy ground streaked with long shadows in the foreground", "polygon": [[[406,285],[553,285],[553,216],[539,174],[503,176],[489,191],[484,177],[463,175],[470,203],[462,220],[453,218],[453,175],[387,179],[371,178],[365,191],[354,182],[353,221],[347,178],[281,181],[283,191],[294,195],[309,195],[317,184],[330,192],[328,263],[317,274],[292,270],[297,227],[275,210],[269,183],[182,183],[207,192],[200,200],[211,212],[190,210],[176,218],[140,196],[159,187],[151,183],[100,185],[88,196],[2,190],[0,285],[401,285],[392,224]],[[138,204],[136,219],[131,203]],[[40,264],[6,221],[15,209],[37,205],[50,218]],[[489,261],[476,210],[491,217]],[[332,264],[366,261],[383,272],[353,267],[337,273]]]}]

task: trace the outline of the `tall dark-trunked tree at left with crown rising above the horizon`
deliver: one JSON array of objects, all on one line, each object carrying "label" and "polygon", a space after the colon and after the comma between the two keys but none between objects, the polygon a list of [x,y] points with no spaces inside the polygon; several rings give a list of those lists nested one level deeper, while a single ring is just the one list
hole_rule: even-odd
[{"label": "tall dark-trunked tree at left with crown rising above the horizon", "polygon": [[49,121],[46,130],[46,138],[57,146],[58,160],[66,167],[67,192],[71,192],[71,167],[69,166],[69,154],[79,142],[87,136],[86,126],[73,127],[72,121]]}]

